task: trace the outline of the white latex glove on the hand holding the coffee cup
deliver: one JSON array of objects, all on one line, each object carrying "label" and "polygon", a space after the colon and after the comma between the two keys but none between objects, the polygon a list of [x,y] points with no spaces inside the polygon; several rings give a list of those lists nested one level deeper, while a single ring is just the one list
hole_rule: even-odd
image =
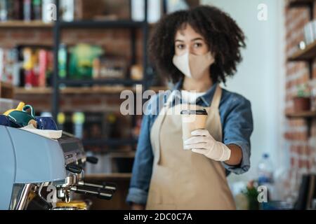
[{"label": "white latex glove on the hand holding the coffee cup", "polygon": [[200,153],[216,161],[230,159],[230,149],[213,139],[208,130],[195,130],[191,134],[193,137],[184,142],[184,149],[192,149],[192,152]]}]

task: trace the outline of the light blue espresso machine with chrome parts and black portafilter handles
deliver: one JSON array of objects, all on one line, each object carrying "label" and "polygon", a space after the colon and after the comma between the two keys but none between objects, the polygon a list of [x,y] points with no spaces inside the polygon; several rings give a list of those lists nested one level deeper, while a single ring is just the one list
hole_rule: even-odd
[{"label": "light blue espresso machine with chrome parts and black portafilter handles", "polygon": [[0,125],[0,209],[62,209],[77,194],[110,200],[116,186],[84,182],[86,162],[98,160],[71,134],[55,140]]}]

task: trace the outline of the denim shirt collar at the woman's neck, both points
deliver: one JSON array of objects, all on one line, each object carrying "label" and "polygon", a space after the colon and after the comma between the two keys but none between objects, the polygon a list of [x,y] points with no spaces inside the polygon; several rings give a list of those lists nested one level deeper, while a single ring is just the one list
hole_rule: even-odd
[{"label": "denim shirt collar at the woman's neck, both points", "polygon": [[[181,99],[180,91],[182,89],[182,85],[183,85],[183,78],[181,78],[178,81],[178,83],[176,83],[173,86],[172,91],[178,90],[176,91],[176,94],[174,94],[173,103],[175,102],[176,98]],[[202,102],[203,106],[211,106],[211,100],[213,99],[213,95],[215,93],[217,85],[218,85],[218,82],[213,83],[213,85],[209,88],[209,90],[206,90],[205,94],[197,98],[196,104],[199,104],[199,102]]]}]

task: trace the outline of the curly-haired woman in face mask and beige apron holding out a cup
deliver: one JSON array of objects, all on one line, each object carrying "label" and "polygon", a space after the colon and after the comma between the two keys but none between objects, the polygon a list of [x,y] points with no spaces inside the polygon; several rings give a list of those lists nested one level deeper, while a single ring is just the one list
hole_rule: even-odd
[{"label": "curly-haired woman in face mask and beige apron holding out a cup", "polygon": [[[251,104],[219,83],[234,75],[244,47],[242,30],[215,7],[178,11],[158,23],[150,56],[176,85],[152,97],[143,116],[127,196],[132,209],[235,209],[226,176],[250,167]],[[180,116],[166,113],[176,102],[209,113],[206,129],[184,143]]]}]

